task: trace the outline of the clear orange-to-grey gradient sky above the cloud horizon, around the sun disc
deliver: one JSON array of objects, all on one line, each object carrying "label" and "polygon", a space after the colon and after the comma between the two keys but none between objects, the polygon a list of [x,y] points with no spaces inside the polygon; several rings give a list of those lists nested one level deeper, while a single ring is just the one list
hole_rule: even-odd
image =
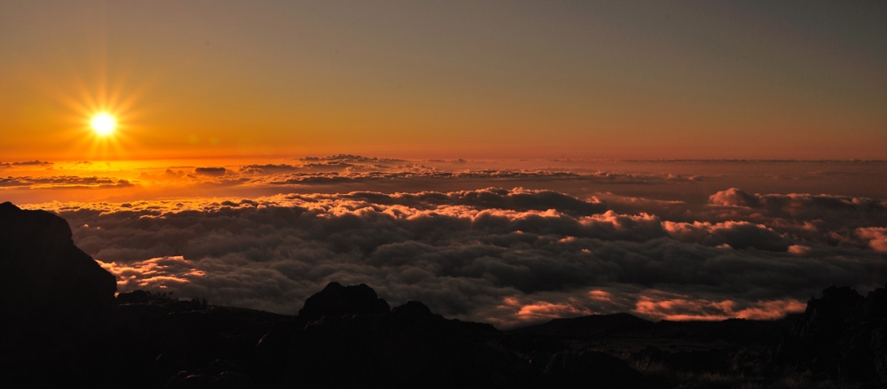
[{"label": "clear orange-to-grey gradient sky above the cloud horizon, around the sun disc", "polygon": [[[0,0],[0,160],[887,159],[887,3]],[[88,130],[117,115],[113,139]]]}]

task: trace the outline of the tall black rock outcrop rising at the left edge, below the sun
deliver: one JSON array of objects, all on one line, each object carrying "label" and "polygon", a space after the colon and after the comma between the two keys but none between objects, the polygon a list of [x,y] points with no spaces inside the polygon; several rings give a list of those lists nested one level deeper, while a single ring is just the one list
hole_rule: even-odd
[{"label": "tall black rock outcrop rising at the left edge, below the sun", "polygon": [[16,322],[83,327],[114,310],[114,276],[71,239],[65,219],[0,204],[0,307]]}]

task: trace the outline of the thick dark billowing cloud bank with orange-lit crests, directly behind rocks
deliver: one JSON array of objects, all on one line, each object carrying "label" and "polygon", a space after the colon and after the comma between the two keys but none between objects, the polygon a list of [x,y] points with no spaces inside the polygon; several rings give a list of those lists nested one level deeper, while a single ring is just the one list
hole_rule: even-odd
[{"label": "thick dark billowing cloud bank with orange-lit crests, directly behind rocks", "polygon": [[[823,285],[865,290],[887,278],[883,227],[852,230],[865,245],[832,245],[774,228],[779,217],[672,222],[554,191],[364,191],[59,213],[122,291],[163,288],[288,314],[338,281],[501,327],[613,312],[766,318],[803,309]],[[753,214],[743,217],[766,217]]]}]

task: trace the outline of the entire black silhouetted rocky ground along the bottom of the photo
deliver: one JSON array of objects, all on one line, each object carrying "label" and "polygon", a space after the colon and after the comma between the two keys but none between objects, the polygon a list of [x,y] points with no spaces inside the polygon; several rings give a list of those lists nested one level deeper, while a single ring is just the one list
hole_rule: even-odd
[{"label": "entire black silhouetted rocky ground along the bottom of the photo", "polygon": [[0,204],[0,386],[887,387],[887,291],[829,287],[779,321],[627,314],[514,331],[331,283],[298,315],[137,291],[67,222]]}]

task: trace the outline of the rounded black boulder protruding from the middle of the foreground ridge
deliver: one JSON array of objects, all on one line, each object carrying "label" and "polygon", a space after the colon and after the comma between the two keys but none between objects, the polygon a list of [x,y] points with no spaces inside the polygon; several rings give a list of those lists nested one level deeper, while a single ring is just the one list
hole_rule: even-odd
[{"label": "rounded black boulder protruding from the middle of the foreground ridge", "polygon": [[299,318],[310,322],[323,316],[384,314],[389,309],[388,302],[366,284],[342,286],[333,282],[305,300]]}]

